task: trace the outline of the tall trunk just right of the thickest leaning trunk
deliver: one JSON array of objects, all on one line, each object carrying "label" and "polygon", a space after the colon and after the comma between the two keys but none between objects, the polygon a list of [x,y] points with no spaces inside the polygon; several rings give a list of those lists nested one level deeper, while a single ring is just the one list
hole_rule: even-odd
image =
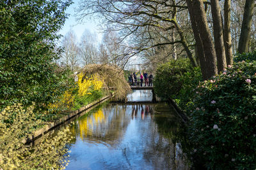
[{"label": "tall trunk just right of the thickest leaning trunk", "polygon": [[227,67],[225,46],[223,42],[223,27],[221,22],[219,0],[211,0],[212,22],[214,31],[215,51],[217,55],[218,73]]}]

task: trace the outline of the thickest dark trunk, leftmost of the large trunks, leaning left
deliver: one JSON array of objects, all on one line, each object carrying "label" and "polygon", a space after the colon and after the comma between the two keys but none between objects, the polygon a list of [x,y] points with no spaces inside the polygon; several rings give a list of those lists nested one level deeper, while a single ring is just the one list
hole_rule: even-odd
[{"label": "thickest dark trunk, leftmost of the large trunks, leaning left", "polygon": [[[200,0],[186,0],[189,9],[189,15],[191,20],[195,20],[196,26],[200,33],[201,43],[204,49],[205,55],[205,66],[207,69],[202,70],[202,74],[204,72],[205,79],[211,78],[217,74],[217,66],[216,66],[216,52],[214,49],[214,44],[211,38],[211,32],[207,24],[206,15],[204,11],[204,4]],[[191,12],[193,11],[193,12]],[[196,35],[194,35],[196,37]],[[197,40],[196,43],[200,45],[200,41]]]}]

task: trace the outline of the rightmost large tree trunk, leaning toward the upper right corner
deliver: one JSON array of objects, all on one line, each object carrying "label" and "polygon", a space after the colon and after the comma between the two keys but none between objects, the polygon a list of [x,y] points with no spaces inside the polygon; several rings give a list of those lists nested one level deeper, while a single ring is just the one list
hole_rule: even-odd
[{"label": "rightmost large tree trunk, leaning toward the upper right corner", "polygon": [[238,53],[248,52],[248,43],[252,26],[253,6],[255,0],[246,0],[244,6],[243,23],[239,38]]}]

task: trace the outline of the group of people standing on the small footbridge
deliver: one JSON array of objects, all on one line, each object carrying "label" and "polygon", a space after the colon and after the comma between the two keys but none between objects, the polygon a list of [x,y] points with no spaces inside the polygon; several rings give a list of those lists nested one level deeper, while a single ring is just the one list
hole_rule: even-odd
[{"label": "group of people standing on the small footbridge", "polygon": [[153,74],[150,74],[148,76],[148,73],[146,73],[146,71],[144,71],[144,74],[141,72],[140,73],[140,83],[139,81],[137,81],[137,76],[136,76],[136,73],[131,73],[130,76],[129,76],[129,83],[131,86],[137,86],[137,87],[142,87],[143,85],[143,79],[144,79],[144,82],[145,82],[145,85],[144,87],[148,86],[148,87],[152,87],[153,85]]}]

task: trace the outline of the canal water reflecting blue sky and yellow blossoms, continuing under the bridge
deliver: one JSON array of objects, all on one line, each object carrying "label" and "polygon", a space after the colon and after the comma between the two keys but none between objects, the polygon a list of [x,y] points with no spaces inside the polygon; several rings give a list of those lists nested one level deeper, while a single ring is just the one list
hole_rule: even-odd
[{"label": "canal water reflecting blue sky and yellow blossoms, continuing under the bridge", "polygon": [[[128,101],[151,101],[136,90]],[[166,103],[104,104],[72,122],[66,169],[189,169],[182,122]]]}]

